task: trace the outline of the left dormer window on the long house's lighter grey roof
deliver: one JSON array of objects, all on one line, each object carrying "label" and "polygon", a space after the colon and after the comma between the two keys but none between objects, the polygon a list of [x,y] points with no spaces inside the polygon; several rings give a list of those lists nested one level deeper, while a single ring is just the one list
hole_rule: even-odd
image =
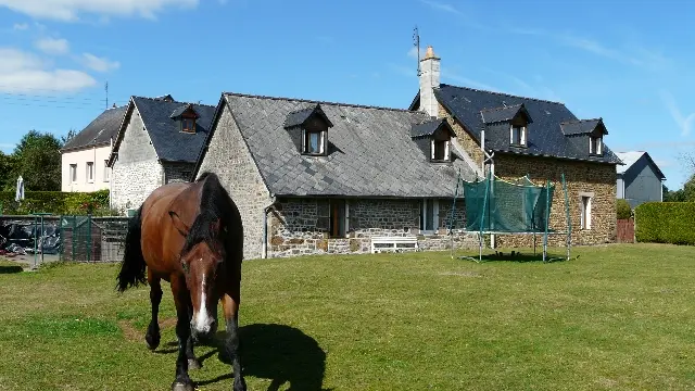
[{"label": "left dormer window on the long house's lighter grey roof", "polygon": [[283,126],[301,154],[328,155],[328,128],[333,124],[328,119],[320,104],[289,113]]}]

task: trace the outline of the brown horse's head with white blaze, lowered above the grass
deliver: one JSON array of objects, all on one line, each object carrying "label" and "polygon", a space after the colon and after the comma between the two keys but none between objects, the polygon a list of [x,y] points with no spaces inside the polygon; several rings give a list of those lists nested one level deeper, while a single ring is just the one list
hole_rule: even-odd
[{"label": "brown horse's head with white blaze, lowered above the grass", "polygon": [[205,338],[217,331],[217,303],[222,292],[216,280],[224,260],[218,239],[220,222],[197,219],[189,228],[175,212],[169,215],[174,227],[186,238],[180,263],[193,306],[191,332],[194,339]]}]

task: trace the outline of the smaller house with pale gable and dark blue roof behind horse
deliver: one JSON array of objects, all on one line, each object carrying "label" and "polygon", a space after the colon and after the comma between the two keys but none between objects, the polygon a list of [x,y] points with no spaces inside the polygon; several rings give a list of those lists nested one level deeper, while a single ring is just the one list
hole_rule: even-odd
[{"label": "smaller house with pale gable and dark blue roof behind horse", "polygon": [[111,207],[132,213],[157,187],[191,179],[215,106],[131,97],[114,137]]}]

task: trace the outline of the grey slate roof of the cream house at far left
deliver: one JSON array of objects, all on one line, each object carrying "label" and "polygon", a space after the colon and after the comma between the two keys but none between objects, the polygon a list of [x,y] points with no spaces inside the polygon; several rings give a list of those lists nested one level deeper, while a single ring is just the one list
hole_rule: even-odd
[{"label": "grey slate roof of the cream house at far left", "polygon": [[73,137],[64,147],[63,151],[108,146],[111,138],[115,140],[121,127],[121,122],[126,113],[126,105],[121,108],[110,108],[99,114],[87,127]]}]

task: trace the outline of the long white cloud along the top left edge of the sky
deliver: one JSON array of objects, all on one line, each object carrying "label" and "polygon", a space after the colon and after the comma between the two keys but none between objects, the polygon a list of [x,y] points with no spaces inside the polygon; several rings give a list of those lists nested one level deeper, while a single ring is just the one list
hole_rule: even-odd
[{"label": "long white cloud along the top left edge of the sky", "polygon": [[75,22],[83,14],[155,18],[173,7],[194,8],[200,0],[0,0],[0,7],[37,18]]}]

